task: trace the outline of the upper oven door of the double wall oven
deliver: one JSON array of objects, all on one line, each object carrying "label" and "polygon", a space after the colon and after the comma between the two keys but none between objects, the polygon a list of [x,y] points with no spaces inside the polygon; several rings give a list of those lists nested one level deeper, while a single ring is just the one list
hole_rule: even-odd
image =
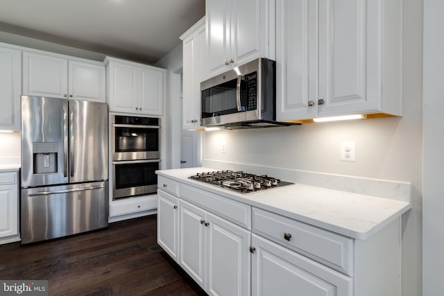
[{"label": "upper oven door of the double wall oven", "polygon": [[159,159],[159,126],[112,124],[112,160]]}]

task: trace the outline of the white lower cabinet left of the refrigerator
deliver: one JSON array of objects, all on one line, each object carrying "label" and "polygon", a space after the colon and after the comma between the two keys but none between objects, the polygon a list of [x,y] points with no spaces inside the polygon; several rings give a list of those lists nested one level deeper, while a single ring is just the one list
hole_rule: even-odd
[{"label": "white lower cabinet left of the refrigerator", "polygon": [[19,241],[17,172],[0,173],[0,243]]}]

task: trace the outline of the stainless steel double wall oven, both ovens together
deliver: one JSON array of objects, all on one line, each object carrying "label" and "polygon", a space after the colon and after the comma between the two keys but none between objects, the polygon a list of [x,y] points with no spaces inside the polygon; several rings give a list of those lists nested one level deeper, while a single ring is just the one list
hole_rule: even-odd
[{"label": "stainless steel double wall oven, both ovens together", "polygon": [[157,192],[160,119],[112,115],[113,199]]}]

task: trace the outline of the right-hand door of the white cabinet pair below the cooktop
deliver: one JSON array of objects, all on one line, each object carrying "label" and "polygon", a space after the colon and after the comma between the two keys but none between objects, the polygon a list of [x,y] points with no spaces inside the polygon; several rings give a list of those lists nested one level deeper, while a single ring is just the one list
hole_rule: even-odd
[{"label": "right-hand door of the white cabinet pair below the cooktop", "polygon": [[212,214],[206,222],[207,292],[250,295],[250,232]]}]

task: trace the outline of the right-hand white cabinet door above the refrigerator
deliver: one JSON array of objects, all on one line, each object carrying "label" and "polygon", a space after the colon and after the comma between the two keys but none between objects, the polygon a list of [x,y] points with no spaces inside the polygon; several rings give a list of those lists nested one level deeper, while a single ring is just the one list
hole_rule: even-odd
[{"label": "right-hand white cabinet door above the refrigerator", "polygon": [[105,67],[69,61],[69,98],[105,102]]}]

